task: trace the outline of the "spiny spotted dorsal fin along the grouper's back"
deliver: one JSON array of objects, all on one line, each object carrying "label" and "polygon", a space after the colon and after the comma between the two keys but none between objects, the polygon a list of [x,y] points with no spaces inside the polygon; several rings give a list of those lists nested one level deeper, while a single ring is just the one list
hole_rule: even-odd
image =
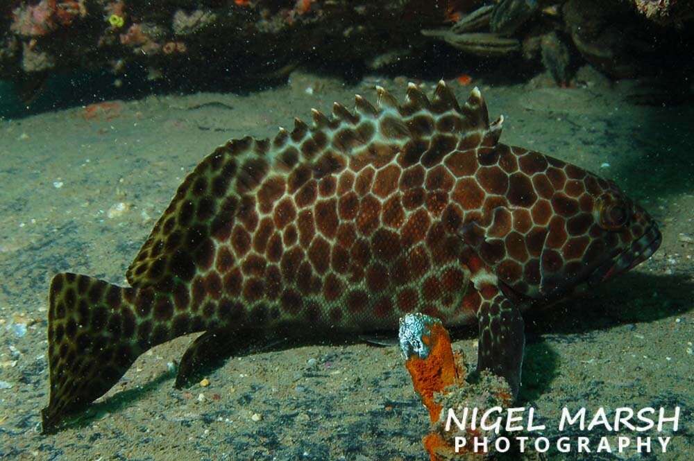
[{"label": "spiny spotted dorsal fin along the grouper's back", "polygon": [[255,209],[273,209],[312,178],[393,156],[403,167],[431,167],[452,150],[489,150],[499,139],[503,119],[489,125],[477,88],[463,107],[443,81],[431,101],[414,84],[402,104],[382,87],[377,92],[378,107],[355,96],[355,112],[335,103],[332,118],[312,111],[312,127],[296,119],[291,132],[280,128],[271,141],[245,137],[214,150],[179,186],[128,268],[130,284],[170,290],[189,281],[210,267],[216,241],[239,234],[237,244],[245,245],[258,225]]}]

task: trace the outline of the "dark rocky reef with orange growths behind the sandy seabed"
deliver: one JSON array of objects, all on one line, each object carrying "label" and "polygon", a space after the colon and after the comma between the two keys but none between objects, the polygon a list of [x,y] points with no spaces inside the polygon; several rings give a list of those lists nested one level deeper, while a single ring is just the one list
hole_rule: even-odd
[{"label": "dark rocky reef with orange growths behind the sandy seabed", "polygon": [[655,78],[658,102],[677,102],[692,90],[693,19],[692,0],[6,0],[0,79],[31,103],[47,79],[85,72],[116,92],[252,89],[300,66],[346,78],[544,71],[539,84],[571,86],[591,64]]}]

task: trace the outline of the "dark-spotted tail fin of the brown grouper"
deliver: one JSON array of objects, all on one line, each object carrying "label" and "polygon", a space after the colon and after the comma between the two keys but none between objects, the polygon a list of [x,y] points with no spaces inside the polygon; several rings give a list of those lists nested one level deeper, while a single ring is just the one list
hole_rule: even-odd
[{"label": "dark-spotted tail fin of the brown grouper", "polygon": [[149,335],[142,337],[137,327],[138,291],[86,275],[53,277],[48,314],[51,397],[42,410],[44,433],[105,394],[149,349]]}]

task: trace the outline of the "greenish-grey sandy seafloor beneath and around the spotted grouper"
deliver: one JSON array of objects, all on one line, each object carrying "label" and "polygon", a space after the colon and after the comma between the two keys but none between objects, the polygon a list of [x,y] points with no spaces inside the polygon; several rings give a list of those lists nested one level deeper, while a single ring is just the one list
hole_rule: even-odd
[{"label": "greenish-grey sandy seafloor beneath and around the spotted grouper", "polygon": [[[574,450],[548,459],[691,460],[694,107],[636,105],[629,98],[640,91],[636,82],[586,81],[573,89],[478,85],[491,116],[506,117],[502,142],[616,180],[659,221],[663,245],[590,297],[526,320],[521,403],[536,408],[552,440],[563,406],[680,406],[668,453]],[[124,284],[154,220],[215,146],[272,136],[294,116],[310,119],[311,107],[330,112],[355,93],[374,101],[376,84],[402,97],[406,82],[370,77],[347,86],[295,73],[285,87],[248,96],[151,96],[91,119],[76,107],[0,121],[0,458],[424,460],[428,415],[398,349],[359,341],[261,349],[226,360],[206,375],[207,387],[174,390],[167,363],[191,340],[178,338],[140,357],[81,421],[38,433],[54,273]],[[453,88],[461,98],[470,91]],[[470,360],[475,335],[456,335],[455,348]]]}]

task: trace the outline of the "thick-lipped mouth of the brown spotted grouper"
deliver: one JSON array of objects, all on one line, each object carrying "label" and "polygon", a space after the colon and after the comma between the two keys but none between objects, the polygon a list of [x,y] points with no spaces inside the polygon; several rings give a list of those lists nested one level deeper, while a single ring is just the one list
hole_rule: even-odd
[{"label": "thick-lipped mouth of the brown spotted grouper", "polygon": [[589,284],[591,286],[598,285],[607,279],[611,279],[615,275],[635,268],[643,263],[643,261],[650,258],[652,254],[658,250],[662,242],[663,236],[658,226],[655,224],[651,225],[651,227],[646,229],[646,232],[633,241],[632,245],[626,250],[611,256],[604,264],[598,266],[593,274],[591,274],[591,277],[589,277]]}]

